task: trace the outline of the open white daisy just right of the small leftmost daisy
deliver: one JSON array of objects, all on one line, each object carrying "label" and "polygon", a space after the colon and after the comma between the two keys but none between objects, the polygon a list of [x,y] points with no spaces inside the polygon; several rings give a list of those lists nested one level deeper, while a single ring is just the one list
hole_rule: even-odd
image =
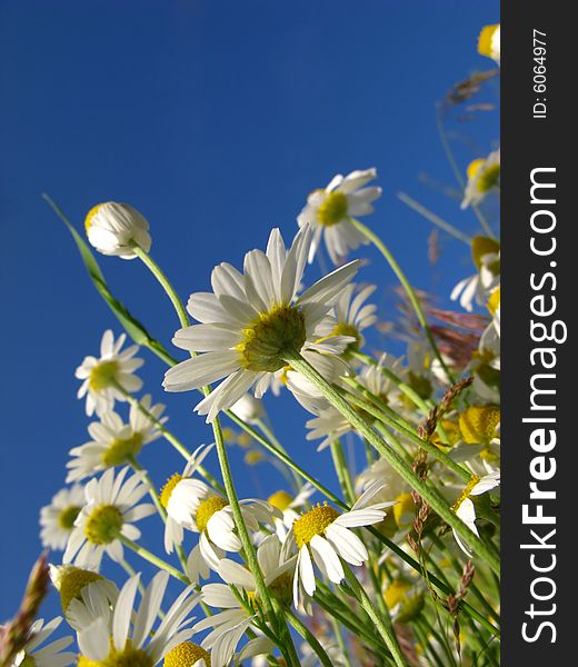
[{"label": "open white daisy just right of the small leftmost daisy", "polygon": [[130,540],[140,538],[133,526],[155,514],[155,506],[140,502],[149,491],[139,475],[127,477],[129,468],[117,476],[109,468],[100,479],[91,479],[84,487],[86,505],[74,521],[63,556],[64,564],[99,569],[102,555],[120,563],[123,557],[121,537]]}]

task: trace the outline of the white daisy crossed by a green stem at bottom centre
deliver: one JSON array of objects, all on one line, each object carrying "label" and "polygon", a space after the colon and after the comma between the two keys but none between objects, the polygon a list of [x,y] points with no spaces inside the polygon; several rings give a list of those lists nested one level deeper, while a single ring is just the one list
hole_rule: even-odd
[{"label": "white daisy crossed by a green stem at bottom centre", "polygon": [[[271,597],[277,598],[281,606],[290,606],[296,557],[285,560],[279,539],[276,535],[270,535],[257,549],[257,559]],[[232,659],[241,637],[251,628],[257,618],[259,594],[255,577],[242,565],[223,558],[217,573],[226,584],[206,584],[202,587],[201,597],[209,607],[218,607],[223,610],[199,621],[195,625],[193,630],[200,633],[212,628],[201,646],[211,650],[212,667],[225,667]],[[243,603],[233,594],[230,586],[237,588]],[[251,629],[259,633],[256,627]],[[268,654],[275,648],[275,645],[265,637],[257,639],[259,641],[249,643],[243,648],[243,658]]]}]

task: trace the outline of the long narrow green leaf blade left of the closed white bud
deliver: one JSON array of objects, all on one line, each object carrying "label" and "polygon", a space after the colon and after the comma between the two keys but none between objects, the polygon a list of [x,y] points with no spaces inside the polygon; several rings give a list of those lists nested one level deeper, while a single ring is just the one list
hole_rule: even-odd
[{"label": "long narrow green leaf blade left of the closed white bud", "polygon": [[144,326],[129,312],[127,307],[112,296],[112,292],[110,291],[109,286],[107,285],[104,275],[102,273],[94,258],[94,255],[90,250],[84,239],[72,227],[72,223],[64,216],[60,207],[46,193],[42,195],[42,199],[44,199],[49,203],[54,213],[68,227],[68,230],[70,231],[72,238],[74,239],[74,242],[77,243],[80,257],[84,262],[84,267],[88,271],[88,275],[90,276],[90,279],[92,280],[92,283],[97,288],[99,295],[108,303],[112,312],[117,316],[118,320],[124,328],[124,331],[127,331],[127,334],[132,338],[132,340],[137,345],[148,347],[169,366],[175,366],[175,364],[177,364],[177,360],[169,355],[169,352],[165,349],[162,344],[159,342],[157,339],[152,338],[152,336],[150,336]]}]

